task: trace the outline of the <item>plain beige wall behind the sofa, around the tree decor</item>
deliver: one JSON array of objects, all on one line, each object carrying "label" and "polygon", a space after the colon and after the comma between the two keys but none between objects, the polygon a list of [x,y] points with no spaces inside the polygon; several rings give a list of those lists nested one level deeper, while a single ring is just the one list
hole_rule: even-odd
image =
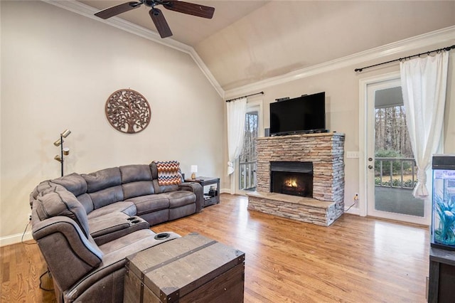
[{"label": "plain beige wall behind the sofa, around the tree decor", "polygon": [[[149,101],[138,134],[105,117],[121,88]],[[41,1],[1,1],[0,105],[0,244],[23,232],[34,186],[60,176],[65,128],[65,174],[166,159],[223,174],[225,102],[188,54]]]}]

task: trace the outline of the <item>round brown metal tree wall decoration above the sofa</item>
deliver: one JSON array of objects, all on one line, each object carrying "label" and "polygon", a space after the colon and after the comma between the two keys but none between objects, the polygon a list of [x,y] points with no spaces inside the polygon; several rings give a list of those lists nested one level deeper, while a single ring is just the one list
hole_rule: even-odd
[{"label": "round brown metal tree wall decoration above the sofa", "polygon": [[134,134],[144,130],[150,122],[150,105],[135,90],[113,92],[106,101],[106,117],[119,132]]}]

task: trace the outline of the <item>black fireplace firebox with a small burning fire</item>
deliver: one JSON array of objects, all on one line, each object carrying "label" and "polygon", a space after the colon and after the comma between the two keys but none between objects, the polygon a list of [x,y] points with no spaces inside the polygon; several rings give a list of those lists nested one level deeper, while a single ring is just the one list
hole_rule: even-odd
[{"label": "black fireplace firebox with a small burning fire", "polygon": [[270,192],[313,198],[313,162],[270,162]]}]

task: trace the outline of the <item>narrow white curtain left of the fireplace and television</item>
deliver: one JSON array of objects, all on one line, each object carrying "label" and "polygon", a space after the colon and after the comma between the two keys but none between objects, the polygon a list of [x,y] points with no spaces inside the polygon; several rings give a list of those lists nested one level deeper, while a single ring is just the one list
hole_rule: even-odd
[{"label": "narrow white curtain left of the fireplace and television", "polygon": [[235,159],[240,156],[245,135],[247,98],[226,102],[228,106],[228,176],[234,172]]}]

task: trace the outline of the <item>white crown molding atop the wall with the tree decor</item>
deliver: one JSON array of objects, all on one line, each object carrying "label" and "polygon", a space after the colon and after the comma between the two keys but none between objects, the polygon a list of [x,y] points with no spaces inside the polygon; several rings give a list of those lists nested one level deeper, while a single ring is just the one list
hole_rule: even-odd
[{"label": "white crown molding atop the wall with the tree decor", "polygon": [[205,65],[203,60],[200,59],[198,53],[196,53],[196,50],[194,50],[193,47],[188,46],[185,43],[181,43],[176,40],[173,40],[172,38],[162,39],[158,33],[155,33],[154,31],[151,31],[148,28],[138,26],[129,21],[125,21],[119,17],[112,17],[109,19],[98,18],[97,16],[95,16],[95,13],[97,11],[99,11],[99,9],[95,9],[92,6],[88,6],[79,1],[75,1],[75,0],[65,0],[65,1],[41,0],[41,1],[43,1],[47,4],[52,4],[54,6],[58,6],[61,9],[66,9],[67,11],[72,11],[73,13],[79,14],[81,16],[91,18],[92,20],[105,23],[109,26],[114,26],[116,28],[121,29],[122,31],[127,31],[128,33],[133,33],[134,35],[140,36],[142,38],[146,38],[150,41],[154,41],[155,43],[159,43],[161,45],[167,46],[169,48],[173,48],[173,49],[181,51],[183,53],[187,53],[194,60],[196,65],[198,65],[198,68],[200,68],[200,70],[205,75],[205,77],[208,79],[208,81],[213,86],[213,88],[215,88],[215,90],[218,92],[218,95],[220,95],[220,97],[222,97],[222,98],[224,97],[225,92],[224,92],[223,88],[220,86],[220,84],[215,79],[215,77],[213,77],[212,73],[210,73],[210,70],[207,68],[207,66]]}]

